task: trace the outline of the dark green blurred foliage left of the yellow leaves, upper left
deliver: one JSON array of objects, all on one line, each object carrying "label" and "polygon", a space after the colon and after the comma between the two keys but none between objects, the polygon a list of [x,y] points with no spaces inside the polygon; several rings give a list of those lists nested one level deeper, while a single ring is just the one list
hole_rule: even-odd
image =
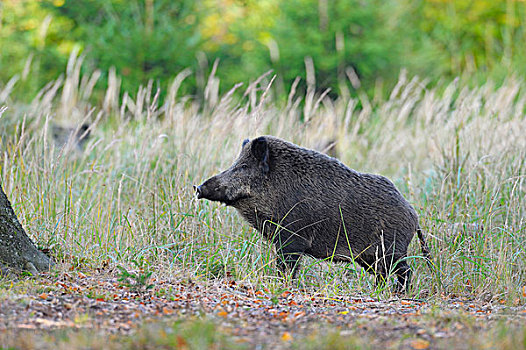
[{"label": "dark green blurred foliage left of the yellow leaves, upper left", "polygon": [[92,69],[117,68],[125,91],[150,79],[165,83],[195,66],[202,15],[195,1],[69,0],[56,6],[47,0],[43,6],[73,23],[63,40],[81,43]]}]

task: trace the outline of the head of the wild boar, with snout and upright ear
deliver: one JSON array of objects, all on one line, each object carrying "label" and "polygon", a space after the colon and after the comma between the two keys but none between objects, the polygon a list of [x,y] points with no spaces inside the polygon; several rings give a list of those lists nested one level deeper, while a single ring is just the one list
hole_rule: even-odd
[{"label": "head of the wild boar, with snout and upright ear", "polygon": [[269,172],[269,147],[265,137],[245,140],[241,153],[230,168],[194,186],[197,198],[236,206],[261,191]]}]

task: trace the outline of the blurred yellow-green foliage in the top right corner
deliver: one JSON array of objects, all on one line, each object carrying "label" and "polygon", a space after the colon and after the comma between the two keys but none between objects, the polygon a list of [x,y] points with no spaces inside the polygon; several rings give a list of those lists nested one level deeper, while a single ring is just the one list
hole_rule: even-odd
[{"label": "blurred yellow-green foliage in the top right corner", "polygon": [[476,83],[525,72],[525,11],[524,2],[513,0],[419,1],[408,17],[408,67],[434,78],[464,74]]}]

